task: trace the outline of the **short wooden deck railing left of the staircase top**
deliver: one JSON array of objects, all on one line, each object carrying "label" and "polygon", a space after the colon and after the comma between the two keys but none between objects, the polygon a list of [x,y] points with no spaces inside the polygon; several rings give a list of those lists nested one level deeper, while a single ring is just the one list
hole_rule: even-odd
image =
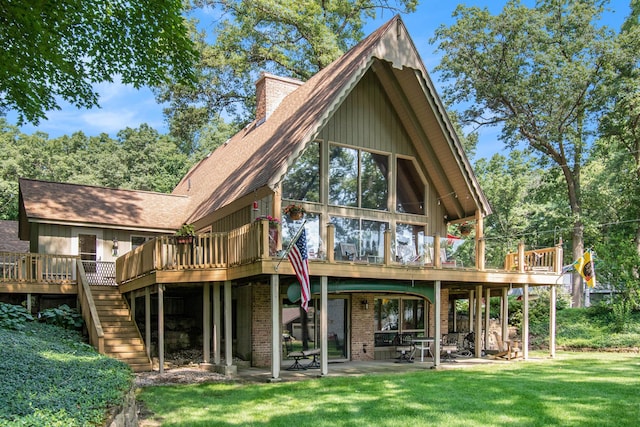
[{"label": "short wooden deck railing left of the staircase top", "polygon": [[2,252],[0,282],[74,282],[78,259],[75,255]]}]

